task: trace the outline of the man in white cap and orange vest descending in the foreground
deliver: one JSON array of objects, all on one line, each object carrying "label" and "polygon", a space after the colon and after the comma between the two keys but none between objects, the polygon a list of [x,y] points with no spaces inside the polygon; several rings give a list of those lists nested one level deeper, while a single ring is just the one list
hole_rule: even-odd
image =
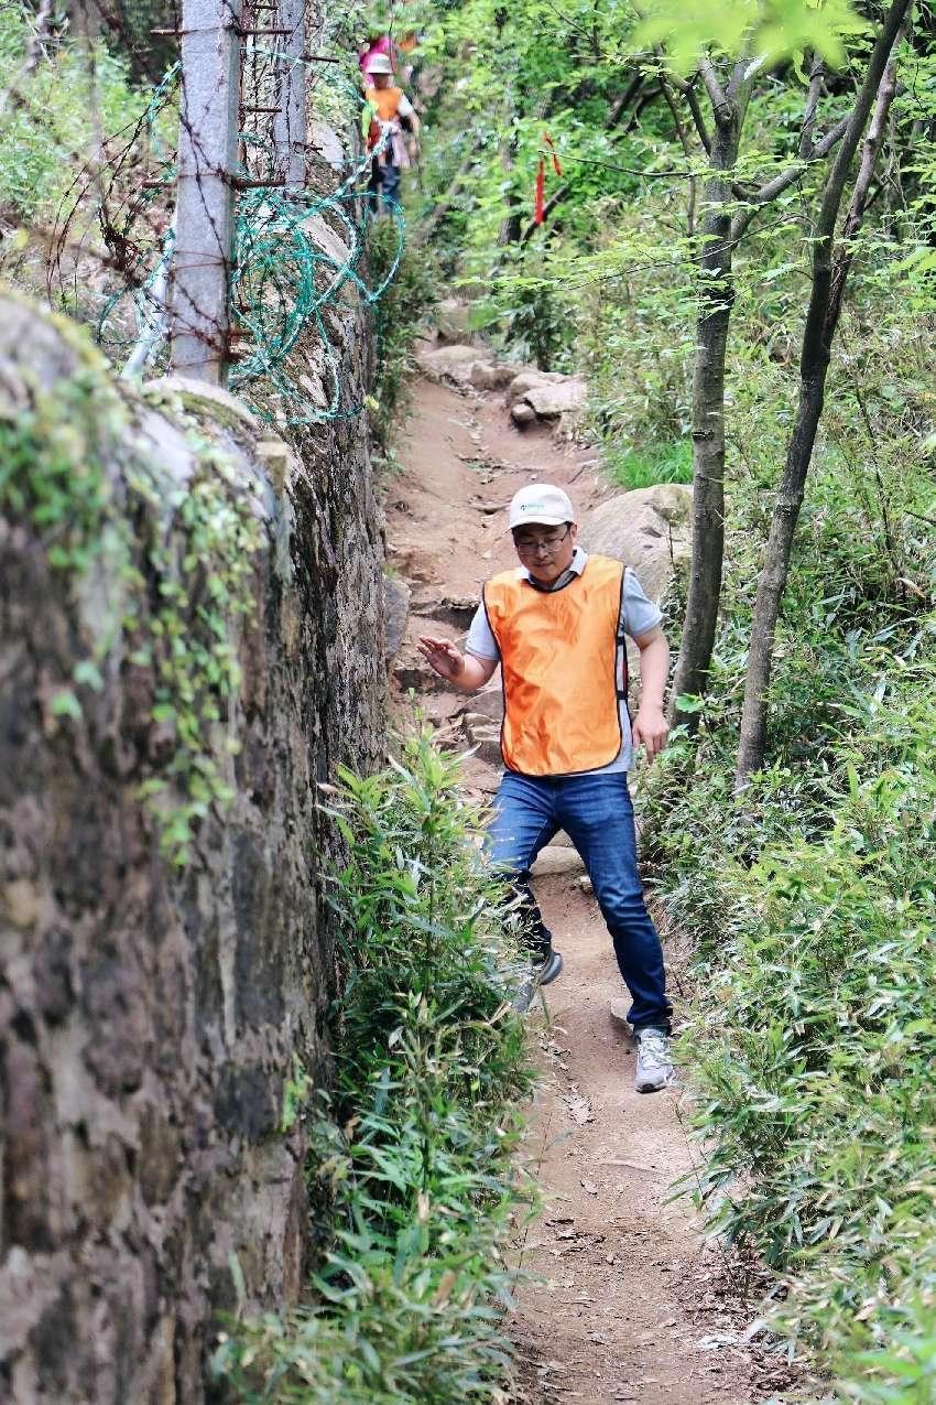
[{"label": "man in white cap and orange vest descending in the foreground", "polygon": [[[653,762],[667,745],[662,615],[630,568],[578,545],[575,511],[561,488],[522,488],[508,521],[519,568],[484,586],[464,653],[432,635],[422,635],[418,648],[463,691],[483,687],[498,663],[502,669],[507,769],[487,842],[491,863],[511,875],[528,916],[533,969],[525,1005],[563,969],[529,888],[533,860],[563,829],[585,863],[630,991],[637,1090],[657,1092],[672,1079],[671,1005],[662,947],[637,877],[627,771],[636,746]],[[640,651],[633,726],[627,635]]]}]

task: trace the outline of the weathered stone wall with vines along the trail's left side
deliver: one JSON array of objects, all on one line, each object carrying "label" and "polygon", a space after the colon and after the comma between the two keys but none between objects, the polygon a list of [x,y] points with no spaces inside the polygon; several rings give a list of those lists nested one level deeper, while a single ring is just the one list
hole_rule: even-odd
[{"label": "weathered stone wall with vines along the trail's left side", "polygon": [[[341,316],[362,388],[366,337]],[[220,392],[115,389],[35,308],[0,299],[0,429],[53,504],[42,520],[32,489],[4,486],[35,464],[0,462],[0,1398],[189,1405],[212,1398],[218,1314],[300,1283],[305,1145],[283,1092],[295,1058],[328,1073],[316,783],[382,750],[380,514],[358,422],[307,434],[300,461]],[[258,528],[253,614],[227,611],[220,636],[185,525],[215,461]],[[198,763],[173,773],[157,705],[166,599],[202,669],[226,645],[243,669],[233,697],[196,698],[233,799],[202,805],[181,861],[166,813]],[[147,780],[166,785],[149,804]]]}]

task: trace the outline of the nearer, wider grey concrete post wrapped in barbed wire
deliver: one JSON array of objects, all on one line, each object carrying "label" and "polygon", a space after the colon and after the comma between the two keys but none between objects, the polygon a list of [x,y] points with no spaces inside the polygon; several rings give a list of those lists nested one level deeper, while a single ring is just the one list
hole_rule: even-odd
[{"label": "nearer, wider grey concrete post wrapped in barbed wire", "polygon": [[223,385],[243,0],[182,0],[173,370]]}]

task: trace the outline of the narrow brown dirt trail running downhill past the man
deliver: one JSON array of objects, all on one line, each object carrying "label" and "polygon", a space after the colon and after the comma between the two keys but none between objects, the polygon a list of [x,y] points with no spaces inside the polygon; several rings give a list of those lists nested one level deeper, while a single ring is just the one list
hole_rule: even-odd
[{"label": "narrow brown dirt trail running downhill past the man", "polygon": [[[406,468],[387,493],[390,563],[413,589],[394,672],[442,735],[469,745],[466,710],[483,711],[484,702],[446,693],[413,641],[427,631],[462,641],[481,583],[515,561],[502,509],[519,486],[556,482],[580,509],[609,489],[596,478],[594,452],[539,430],[519,434],[500,396],[422,382],[417,403],[401,436]],[[494,762],[488,740],[469,763],[479,794],[495,790]],[[678,1094],[633,1089],[633,1047],[609,1017],[623,986],[598,906],[574,873],[540,878],[536,889],[566,971],[547,992],[549,1016],[530,1016],[543,1082],[526,1158],[546,1210],[518,1249],[530,1274],[512,1319],[519,1398],[763,1399],[777,1381],[744,1343],[749,1315],[728,1290],[720,1250],[706,1245],[686,1200],[668,1203],[693,1154]]]}]

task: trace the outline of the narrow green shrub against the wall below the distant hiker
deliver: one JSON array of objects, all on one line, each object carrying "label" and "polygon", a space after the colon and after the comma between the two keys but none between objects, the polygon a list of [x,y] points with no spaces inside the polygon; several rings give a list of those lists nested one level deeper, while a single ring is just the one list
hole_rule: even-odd
[{"label": "narrow green shrub against the wall below the distant hiker", "polygon": [[[390,275],[397,257],[397,232],[390,219],[375,219],[368,233],[368,263],[376,287]],[[438,299],[438,270],[425,249],[404,246],[386,292],[376,303],[377,371],[370,427],[386,452],[394,423],[408,406],[410,353]]]}]

